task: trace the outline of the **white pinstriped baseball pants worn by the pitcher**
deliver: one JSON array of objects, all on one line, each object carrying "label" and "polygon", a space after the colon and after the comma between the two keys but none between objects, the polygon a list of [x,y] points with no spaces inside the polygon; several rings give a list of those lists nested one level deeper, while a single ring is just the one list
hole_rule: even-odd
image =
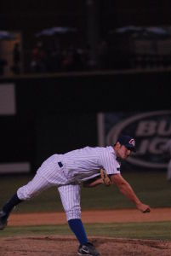
[{"label": "white pinstriped baseball pants worn by the pitcher", "polygon": [[37,196],[43,190],[56,186],[60,192],[60,199],[66,212],[66,219],[81,218],[80,185],[78,183],[61,185],[61,180],[64,177],[61,177],[62,172],[60,171],[60,167],[56,165],[55,158],[51,156],[43,162],[43,165],[37,170],[35,177],[17,190],[17,195],[20,200],[26,201]]}]

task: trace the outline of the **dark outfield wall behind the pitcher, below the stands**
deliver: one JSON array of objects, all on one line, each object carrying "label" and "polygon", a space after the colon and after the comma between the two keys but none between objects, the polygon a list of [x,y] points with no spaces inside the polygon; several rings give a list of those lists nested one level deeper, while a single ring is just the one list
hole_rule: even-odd
[{"label": "dark outfield wall behind the pitcher, below the stands", "polygon": [[171,73],[94,73],[0,79],[15,84],[16,114],[0,116],[0,162],[30,161],[98,143],[96,114],[170,109]]}]

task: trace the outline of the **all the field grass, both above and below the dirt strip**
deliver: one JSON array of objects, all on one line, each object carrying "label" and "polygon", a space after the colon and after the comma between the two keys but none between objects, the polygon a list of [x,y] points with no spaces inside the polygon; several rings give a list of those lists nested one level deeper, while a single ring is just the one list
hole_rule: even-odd
[{"label": "all the field grass, both above and below the dirt strip", "polygon": [[[151,207],[171,207],[171,183],[166,180],[165,172],[128,172],[123,174],[133,187],[141,201]],[[0,206],[14,195],[16,190],[31,180],[31,176],[0,177]],[[128,201],[115,186],[99,186],[81,191],[81,205],[88,209],[130,208],[134,204]],[[31,201],[16,207],[15,212],[54,212],[63,211],[60,196],[56,188],[44,191]],[[130,224],[85,224],[88,236],[111,236],[171,240],[171,222],[130,223]],[[72,235],[67,225],[43,225],[7,227],[0,232],[3,236],[30,235]]]}]

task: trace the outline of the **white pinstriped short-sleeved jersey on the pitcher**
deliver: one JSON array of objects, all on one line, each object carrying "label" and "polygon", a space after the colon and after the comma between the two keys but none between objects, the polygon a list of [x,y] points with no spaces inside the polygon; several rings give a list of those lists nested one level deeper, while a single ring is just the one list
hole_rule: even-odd
[{"label": "white pinstriped short-sleeved jersey on the pitcher", "polygon": [[120,173],[120,164],[111,146],[80,148],[63,154],[61,162],[65,175],[73,181],[85,181],[100,175],[103,167],[107,174]]}]

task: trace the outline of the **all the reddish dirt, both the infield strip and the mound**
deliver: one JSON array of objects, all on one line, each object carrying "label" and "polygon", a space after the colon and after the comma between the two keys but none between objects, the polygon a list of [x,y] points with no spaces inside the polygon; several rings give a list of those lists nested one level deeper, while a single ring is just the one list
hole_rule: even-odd
[{"label": "all the reddish dirt, both the infield strip and the mound", "polygon": [[[151,214],[152,213],[152,214]],[[171,221],[171,208],[152,209],[142,214],[136,209],[82,212],[83,223]],[[9,226],[66,224],[64,212],[12,214]],[[151,241],[89,237],[102,256],[170,256],[171,241]],[[0,256],[74,256],[74,236],[14,236],[0,239]]]}]

